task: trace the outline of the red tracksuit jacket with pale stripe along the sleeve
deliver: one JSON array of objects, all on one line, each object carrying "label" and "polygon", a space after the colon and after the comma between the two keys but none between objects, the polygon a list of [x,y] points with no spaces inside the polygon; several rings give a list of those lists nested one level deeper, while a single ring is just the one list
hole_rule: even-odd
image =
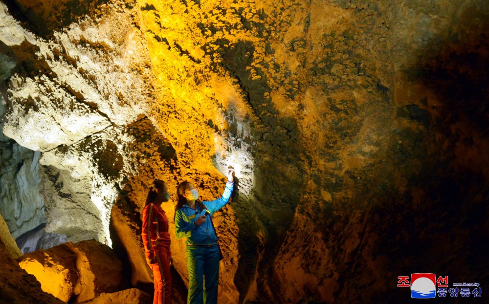
[{"label": "red tracksuit jacket with pale stripe along the sleeve", "polygon": [[154,203],[143,209],[143,228],[141,231],[146,258],[153,259],[155,251],[170,251],[170,234],[168,233],[168,217],[160,206]]}]

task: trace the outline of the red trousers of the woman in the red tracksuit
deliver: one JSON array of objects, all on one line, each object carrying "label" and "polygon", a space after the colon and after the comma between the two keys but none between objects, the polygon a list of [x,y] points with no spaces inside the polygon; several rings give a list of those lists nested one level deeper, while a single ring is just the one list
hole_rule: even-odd
[{"label": "red trousers of the woman in the red tracksuit", "polygon": [[150,264],[155,279],[155,297],[153,304],[172,303],[172,277],[170,276],[170,261],[166,252],[155,251],[156,263]]}]

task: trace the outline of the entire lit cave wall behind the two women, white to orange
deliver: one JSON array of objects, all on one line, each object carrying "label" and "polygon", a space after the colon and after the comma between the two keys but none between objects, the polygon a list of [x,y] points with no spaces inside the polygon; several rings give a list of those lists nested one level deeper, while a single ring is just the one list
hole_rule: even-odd
[{"label": "entire lit cave wall behind the two women, white to orange", "polygon": [[489,281],[487,1],[16,3],[2,130],[40,154],[46,230],[112,234],[133,286],[150,280],[152,180],[173,218],[178,182],[218,197],[229,164],[222,303],[403,303],[397,277],[423,271]]}]

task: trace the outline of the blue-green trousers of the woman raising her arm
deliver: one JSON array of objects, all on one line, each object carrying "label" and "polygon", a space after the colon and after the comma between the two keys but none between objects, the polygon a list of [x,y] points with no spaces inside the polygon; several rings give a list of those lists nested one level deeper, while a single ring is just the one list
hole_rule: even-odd
[{"label": "blue-green trousers of the woman raising her arm", "polygon": [[217,304],[219,261],[218,245],[187,246],[187,304]]}]

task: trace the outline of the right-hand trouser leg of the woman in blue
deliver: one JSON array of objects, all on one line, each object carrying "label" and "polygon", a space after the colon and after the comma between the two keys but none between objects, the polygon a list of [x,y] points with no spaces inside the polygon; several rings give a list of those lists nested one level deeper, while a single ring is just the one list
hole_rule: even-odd
[{"label": "right-hand trouser leg of the woman in blue", "polygon": [[204,303],[217,304],[217,291],[219,286],[219,247],[213,246],[206,249],[204,261]]}]

